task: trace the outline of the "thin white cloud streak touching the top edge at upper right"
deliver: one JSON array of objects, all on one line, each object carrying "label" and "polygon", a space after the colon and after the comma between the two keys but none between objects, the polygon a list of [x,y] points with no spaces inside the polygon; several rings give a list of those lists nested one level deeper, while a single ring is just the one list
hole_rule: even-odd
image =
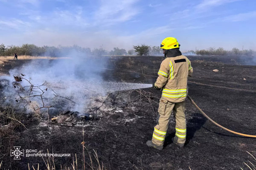
[{"label": "thin white cloud streak touching the top edge at upper right", "polygon": [[195,6],[195,8],[206,9],[206,8],[211,8],[213,6],[221,6],[225,3],[233,3],[236,1],[241,1],[241,0],[204,0],[203,2]]}]

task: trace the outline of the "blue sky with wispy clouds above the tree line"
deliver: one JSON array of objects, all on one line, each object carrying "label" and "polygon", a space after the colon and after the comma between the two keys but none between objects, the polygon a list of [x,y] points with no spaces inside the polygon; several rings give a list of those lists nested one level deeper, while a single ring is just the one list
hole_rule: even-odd
[{"label": "blue sky with wispy clouds above the tree line", "polygon": [[256,50],[256,0],[0,0],[0,43]]}]

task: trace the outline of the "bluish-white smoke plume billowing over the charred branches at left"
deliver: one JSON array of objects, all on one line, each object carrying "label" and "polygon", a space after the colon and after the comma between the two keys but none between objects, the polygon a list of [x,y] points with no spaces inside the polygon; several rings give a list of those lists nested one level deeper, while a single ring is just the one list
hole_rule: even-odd
[{"label": "bluish-white smoke plume billowing over the charred branches at left", "polygon": [[[33,59],[21,68],[10,70],[10,76],[1,77],[2,86],[7,83],[3,81],[4,79],[9,80],[9,85],[4,90],[6,102],[11,102],[11,99],[15,100],[13,96],[15,89],[12,87],[12,82],[15,81],[13,75],[17,74],[26,75],[24,76],[26,79],[31,77],[31,82],[35,86],[47,82],[45,88],[48,88],[48,91],[44,93],[45,98],[52,99],[55,93],[67,97],[79,103],[79,105],[73,106],[75,108],[72,109],[80,112],[86,107],[87,99],[90,96],[105,95],[106,91],[100,85],[100,82],[102,82],[100,74],[107,63],[107,58],[93,58],[77,51],[70,52],[68,56],[65,59]],[[23,87],[29,85],[25,80],[20,84]],[[39,100],[38,103],[40,103],[41,99],[35,98],[35,100]]]}]

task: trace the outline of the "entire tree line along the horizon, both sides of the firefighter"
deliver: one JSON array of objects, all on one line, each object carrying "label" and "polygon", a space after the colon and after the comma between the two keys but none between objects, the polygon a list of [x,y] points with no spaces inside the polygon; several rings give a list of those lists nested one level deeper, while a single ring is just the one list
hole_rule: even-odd
[{"label": "entire tree line along the horizon, both sides of the firefighter", "polygon": [[[111,51],[106,51],[101,45],[99,48],[84,48],[78,45],[73,46],[42,46],[39,47],[34,44],[23,44],[21,46],[4,44],[0,45],[0,56],[13,56],[17,52],[18,55],[28,55],[28,56],[49,56],[49,57],[67,57],[72,52],[79,52],[92,56],[103,56],[103,55],[139,55],[139,56],[163,56],[163,51],[159,46],[149,46],[149,45],[134,45],[133,49],[126,51],[123,48],[115,47]],[[197,50],[197,51],[187,51],[189,55],[246,55],[255,56],[256,51],[253,50],[239,50],[238,48],[233,48],[231,51],[224,50],[224,48],[214,48],[210,47],[207,50]]]}]

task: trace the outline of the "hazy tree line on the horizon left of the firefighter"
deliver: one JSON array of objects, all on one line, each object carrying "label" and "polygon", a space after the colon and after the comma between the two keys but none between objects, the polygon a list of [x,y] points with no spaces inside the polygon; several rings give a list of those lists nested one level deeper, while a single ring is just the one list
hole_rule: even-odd
[{"label": "hazy tree line on the horizon left of the firefighter", "polygon": [[123,48],[115,47],[111,51],[107,51],[101,45],[99,48],[84,48],[78,45],[73,46],[47,46],[39,47],[34,44],[23,44],[21,46],[0,44],[0,56],[18,55],[28,56],[49,56],[49,57],[67,57],[72,52],[79,52],[87,55],[103,56],[103,55],[161,55],[161,50],[157,46],[137,45],[133,49],[126,51]]}]

